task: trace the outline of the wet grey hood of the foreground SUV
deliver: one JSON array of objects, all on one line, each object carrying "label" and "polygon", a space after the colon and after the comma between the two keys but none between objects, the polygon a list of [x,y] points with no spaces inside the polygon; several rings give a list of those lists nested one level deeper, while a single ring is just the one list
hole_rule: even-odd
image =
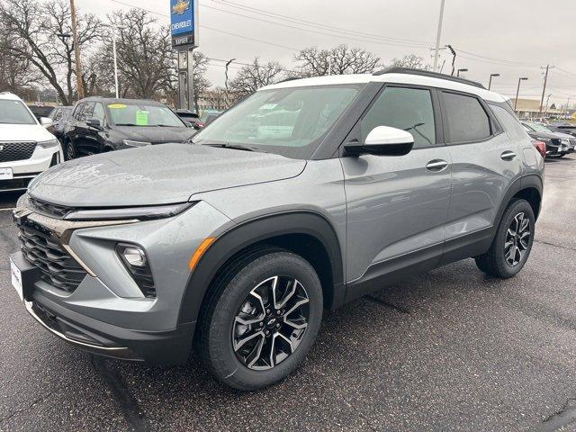
[{"label": "wet grey hood of the foreground SUV", "polygon": [[278,155],[165,144],[74,159],[36,177],[32,197],[72,207],[186,202],[195,193],[283,180],[302,173],[304,160]]}]

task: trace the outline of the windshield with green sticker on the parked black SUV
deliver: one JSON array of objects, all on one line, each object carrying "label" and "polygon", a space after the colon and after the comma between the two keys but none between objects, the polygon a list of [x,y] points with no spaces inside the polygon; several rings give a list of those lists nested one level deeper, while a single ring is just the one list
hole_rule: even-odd
[{"label": "windshield with green sticker on the parked black SUV", "polygon": [[167,106],[145,103],[108,103],[112,123],[117,126],[172,126],[186,125]]}]

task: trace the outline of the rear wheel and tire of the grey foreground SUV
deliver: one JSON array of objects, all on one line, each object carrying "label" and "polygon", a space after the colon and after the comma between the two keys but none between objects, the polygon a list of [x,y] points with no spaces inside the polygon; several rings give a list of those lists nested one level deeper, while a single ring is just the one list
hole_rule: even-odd
[{"label": "rear wheel and tire of the grey foreground SUV", "polygon": [[487,275],[509,278],[527,262],[535,235],[534,211],[526,200],[509,203],[488,252],[476,257],[476,266]]}]

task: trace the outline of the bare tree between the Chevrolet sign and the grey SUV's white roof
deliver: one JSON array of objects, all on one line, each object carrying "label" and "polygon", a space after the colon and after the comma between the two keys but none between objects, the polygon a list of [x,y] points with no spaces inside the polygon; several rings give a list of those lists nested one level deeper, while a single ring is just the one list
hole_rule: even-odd
[{"label": "bare tree between the Chevrolet sign and the grey SUV's white roof", "polygon": [[252,94],[259,87],[278,82],[283,73],[284,68],[277,61],[269,61],[261,65],[258,58],[254,58],[252,64],[240,68],[238,74],[230,82],[231,93],[236,99]]}]

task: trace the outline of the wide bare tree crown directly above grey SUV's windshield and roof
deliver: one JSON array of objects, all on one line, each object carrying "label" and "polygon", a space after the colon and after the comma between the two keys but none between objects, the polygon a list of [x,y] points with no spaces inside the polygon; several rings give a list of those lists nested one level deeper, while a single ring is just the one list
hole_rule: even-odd
[{"label": "wide bare tree crown directly above grey SUV's windshield and roof", "polygon": [[366,74],[381,67],[380,58],[361,48],[338,45],[332,49],[310,47],[294,56],[299,62],[291,76]]}]

